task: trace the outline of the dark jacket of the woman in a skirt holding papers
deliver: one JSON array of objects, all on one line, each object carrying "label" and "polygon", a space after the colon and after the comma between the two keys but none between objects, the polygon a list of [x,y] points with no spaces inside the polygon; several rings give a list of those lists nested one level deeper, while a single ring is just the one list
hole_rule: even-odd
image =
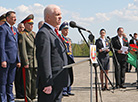
[{"label": "dark jacket of the woman in a skirt holding papers", "polygon": [[[106,42],[106,47],[109,47],[109,49],[110,49],[109,41],[106,39],[105,42]],[[98,52],[98,58],[109,57],[108,52],[106,52],[106,51],[99,52],[99,49],[104,47],[103,43],[102,43],[102,40],[100,38],[96,40],[95,45],[96,45],[96,49],[97,49],[97,52]]]}]

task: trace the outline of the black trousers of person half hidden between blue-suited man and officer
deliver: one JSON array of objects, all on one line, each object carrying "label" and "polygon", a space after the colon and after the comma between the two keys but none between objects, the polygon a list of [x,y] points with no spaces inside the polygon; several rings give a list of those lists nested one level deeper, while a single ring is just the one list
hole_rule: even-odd
[{"label": "black trousers of person half hidden between blue-suited man and officer", "polygon": [[24,85],[23,85],[23,76],[22,76],[22,68],[16,69],[15,75],[15,91],[16,97],[24,97]]}]

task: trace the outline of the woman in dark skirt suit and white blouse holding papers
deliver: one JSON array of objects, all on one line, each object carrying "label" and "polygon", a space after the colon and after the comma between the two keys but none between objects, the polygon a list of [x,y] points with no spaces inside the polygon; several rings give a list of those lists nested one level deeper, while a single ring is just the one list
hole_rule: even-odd
[{"label": "woman in dark skirt suit and white blouse holding papers", "polygon": [[[110,51],[110,44],[109,41],[105,38],[106,30],[101,29],[100,30],[100,38],[96,40],[96,48],[98,52],[98,59],[101,62],[101,65],[103,69],[105,70],[107,76],[108,76],[108,70],[109,70],[109,51]],[[109,90],[108,87],[108,79],[105,77],[105,86],[103,83],[104,77],[103,77],[103,70],[100,66],[100,79],[101,79],[101,88],[102,90]]]}]

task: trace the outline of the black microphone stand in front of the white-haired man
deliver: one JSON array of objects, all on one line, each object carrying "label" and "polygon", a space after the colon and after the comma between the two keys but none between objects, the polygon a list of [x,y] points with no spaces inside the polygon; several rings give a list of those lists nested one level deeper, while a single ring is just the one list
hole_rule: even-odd
[{"label": "black microphone stand in front of the white-haired man", "polygon": [[[81,30],[79,28],[78,28],[78,31],[81,34],[81,36],[83,37],[83,39],[84,39],[85,43],[87,44],[87,46],[90,48],[88,42],[86,41],[85,37],[83,36],[83,34],[82,34],[82,32],[81,32]],[[90,31],[89,31],[89,33],[92,34]],[[107,74],[106,74],[105,70],[103,69],[103,66],[100,63],[100,61],[99,61],[98,58],[97,58],[97,61],[98,61],[99,65],[100,65],[102,71],[105,73],[105,76],[107,77],[110,85],[114,89],[114,86],[113,86],[112,82],[110,81],[109,77],[107,76]],[[98,79],[98,77],[97,77],[97,67],[98,67],[98,65],[97,64],[93,64],[93,66],[95,68],[95,87],[96,87],[95,88],[95,93],[96,93],[96,102],[98,102],[98,90],[97,90],[97,79]],[[90,83],[91,84],[91,92],[90,92],[90,102],[92,102],[92,65],[91,65],[91,61],[90,61],[90,67],[91,67],[91,78],[90,78],[90,80],[91,80],[91,83]]]}]

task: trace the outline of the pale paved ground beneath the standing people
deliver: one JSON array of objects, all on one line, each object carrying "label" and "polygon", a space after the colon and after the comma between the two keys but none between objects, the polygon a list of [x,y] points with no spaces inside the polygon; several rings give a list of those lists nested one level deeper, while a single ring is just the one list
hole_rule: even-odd
[{"label": "pale paved ground beneath the standing people", "polygon": [[[75,61],[80,61],[85,58],[75,58]],[[99,68],[98,77],[99,77]],[[111,91],[102,91],[103,102],[138,102],[138,90],[131,84],[136,82],[137,74],[132,68],[131,73],[126,73],[126,89],[117,89]],[[93,92],[92,102],[95,102],[95,85],[94,85],[94,69],[93,69]],[[113,82],[113,66],[112,59],[110,60],[109,78]],[[72,92],[75,96],[64,97],[63,102],[90,102],[90,67],[89,62],[85,62],[74,66],[74,84],[72,86]],[[99,83],[100,84],[100,83]],[[111,88],[111,85],[109,85]],[[21,99],[15,99],[16,102],[24,102]],[[37,102],[37,99],[34,101]],[[101,102],[100,95],[98,93],[98,102]]]}]

